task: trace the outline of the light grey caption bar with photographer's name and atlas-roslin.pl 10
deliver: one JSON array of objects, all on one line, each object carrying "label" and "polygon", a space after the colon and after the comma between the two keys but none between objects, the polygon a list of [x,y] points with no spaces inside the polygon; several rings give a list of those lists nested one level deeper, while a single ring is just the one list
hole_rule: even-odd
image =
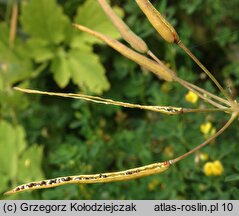
[{"label": "light grey caption bar with photographer's name and atlas-roslin.pl 10", "polygon": [[8,200],[0,201],[0,215],[190,215],[238,216],[239,201],[234,200]]}]

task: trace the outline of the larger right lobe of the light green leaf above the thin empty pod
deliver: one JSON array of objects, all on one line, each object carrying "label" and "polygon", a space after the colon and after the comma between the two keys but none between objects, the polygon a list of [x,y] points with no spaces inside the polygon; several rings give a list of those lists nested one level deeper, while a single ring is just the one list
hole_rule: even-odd
[{"label": "larger right lobe of the light green leaf above the thin empty pod", "polygon": [[71,50],[69,63],[75,84],[97,94],[109,89],[110,84],[105,77],[105,70],[99,57],[88,47]]}]

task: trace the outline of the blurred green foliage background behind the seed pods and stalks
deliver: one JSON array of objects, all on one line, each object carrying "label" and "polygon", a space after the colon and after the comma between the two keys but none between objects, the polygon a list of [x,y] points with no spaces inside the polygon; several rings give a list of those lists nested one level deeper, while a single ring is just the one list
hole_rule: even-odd
[{"label": "blurred green foliage background behind the seed pods and stalks", "polygon": [[[239,8],[237,0],[152,1],[181,39],[237,98]],[[180,77],[217,93],[192,61],[165,44],[134,1],[112,1],[132,29]],[[116,29],[95,0],[0,2],[1,193],[28,181],[117,171],[179,156],[205,137],[206,121],[220,128],[226,114],[164,116],[142,110],[26,95],[14,85],[55,92],[84,92],[132,103],[204,106],[185,101],[187,91],[163,83],[100,41],[73,30],[86,25],[114,38]],[[14,44],[10,32],[16,28]],[[107,73],[106,73],[107,71]],[[224,173],[207,177],[205,161],[190,156],[164,174],[127,182],[68,185],[4,199],[239,199],[238,122],[202,149]]]}]

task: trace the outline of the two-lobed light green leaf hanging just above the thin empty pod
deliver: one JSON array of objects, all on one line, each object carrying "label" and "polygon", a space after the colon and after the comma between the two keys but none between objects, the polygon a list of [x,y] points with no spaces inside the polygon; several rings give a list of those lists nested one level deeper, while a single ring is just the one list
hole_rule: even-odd
[{"label": "two-lobed light green leaf hanging just above the thin empty pod", "polygon": [[70,79],[79,87],[97,94],[108,90],[110,86],[99,57],[88,45],[81,44],[81,49],[71,49],[69,52],[59,48],[51,71],[61,88],[66,87]]}]

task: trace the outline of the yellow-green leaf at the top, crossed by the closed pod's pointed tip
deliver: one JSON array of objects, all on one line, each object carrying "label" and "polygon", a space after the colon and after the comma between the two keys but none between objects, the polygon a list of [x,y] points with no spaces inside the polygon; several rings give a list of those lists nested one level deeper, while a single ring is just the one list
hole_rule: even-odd
[{"label": "yellow-green leaf at the top, crossed by the closed pod's pointed tip", "polygon": [[[118,14],[123,14],[121,13],[122,10],[118,8],[117,11]],[[105,15],[96,0],[87,0],[83,5],[81,5],[77,10],[77,15],[74,21],[75,23],[87,26],[95,31],[102,32],[112,38],[120,38],[118,30]],[[73,47],[77,47],[77,44],[81,44],[82,40],[91,43],[100,42],[94,37],[89,37],[89,35],[79,32],[79,34],[74,37],[71,45]]]}]

